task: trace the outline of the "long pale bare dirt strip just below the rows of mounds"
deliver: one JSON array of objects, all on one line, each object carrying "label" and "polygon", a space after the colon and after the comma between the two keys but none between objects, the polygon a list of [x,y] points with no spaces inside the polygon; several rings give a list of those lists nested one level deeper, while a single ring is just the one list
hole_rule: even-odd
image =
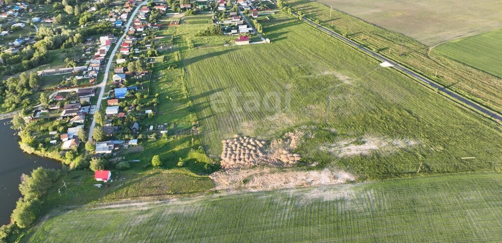
[{"label": "long pale bare dirt strip just below the rows of mounds", "polygon": [[213,173],[217,190],[262,191],[279,188],[334,185],[354,181],[355,176],[340,170],[292,171],[278,168],[227,170]]}]

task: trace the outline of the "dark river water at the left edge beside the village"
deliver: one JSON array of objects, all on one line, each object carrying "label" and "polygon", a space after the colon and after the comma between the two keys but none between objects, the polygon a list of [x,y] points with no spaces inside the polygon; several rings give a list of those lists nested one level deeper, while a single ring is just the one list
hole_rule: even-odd
[{"label": "dark river water at the left edge beside the village", "polygon": [[58,161],[29,155],[19,148],[19,137],[11,129],[11,125],[4,125],[10,119],[0,120],[0,225],[11,221],[12,210],[16,207],[16,201],[21,197],[18,186],[21,183],[23,173],[40,166],[44,168],[60,169]]}]

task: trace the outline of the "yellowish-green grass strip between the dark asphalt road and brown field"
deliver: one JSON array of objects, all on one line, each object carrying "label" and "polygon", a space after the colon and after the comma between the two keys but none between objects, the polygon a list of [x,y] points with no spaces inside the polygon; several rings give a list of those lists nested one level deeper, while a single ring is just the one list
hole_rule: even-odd
[{"label": "yellowish-green grass strip between the dark asphalt road and brown field", "polygon": [[[337,11],[336,6],[333,6],[334,9],[330,14],[330,8],[318,2],[307,0],[286,2],[290,7],[301,11],[305,17],[317,19],[325,27],[339,33],[346,33],[351,40],[378,51],[469,99],[499,112],[502,111],[500,92],[502,82],[498,78],[449,58],[434,53],[429,55],[429,47],[417,40]],[[458,4],[469,4],[464,2]]]}]

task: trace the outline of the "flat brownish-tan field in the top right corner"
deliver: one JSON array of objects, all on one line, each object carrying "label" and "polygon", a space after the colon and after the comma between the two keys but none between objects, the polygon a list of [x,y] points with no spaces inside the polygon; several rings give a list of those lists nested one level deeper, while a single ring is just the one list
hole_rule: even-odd
[{"label": "flat brownish-tan field in the top right corner", "polygon": [[443,41],[502,28],[497,0],[318,0],[369,23],[433,46]]}]

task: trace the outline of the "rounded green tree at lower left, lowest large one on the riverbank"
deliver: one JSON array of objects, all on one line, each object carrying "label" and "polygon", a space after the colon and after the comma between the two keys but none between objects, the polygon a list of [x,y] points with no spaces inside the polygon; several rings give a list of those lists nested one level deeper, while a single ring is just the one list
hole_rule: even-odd
[{"label": "rounded green tree at lower left, lowest large one on the riverbank", "polygon": [[39,215],[40,201],[38,199],[29,201],[19,199],[16,203],[16,208],[12,212],[11,219],[20,228],[26,228],[30,226]]}]

